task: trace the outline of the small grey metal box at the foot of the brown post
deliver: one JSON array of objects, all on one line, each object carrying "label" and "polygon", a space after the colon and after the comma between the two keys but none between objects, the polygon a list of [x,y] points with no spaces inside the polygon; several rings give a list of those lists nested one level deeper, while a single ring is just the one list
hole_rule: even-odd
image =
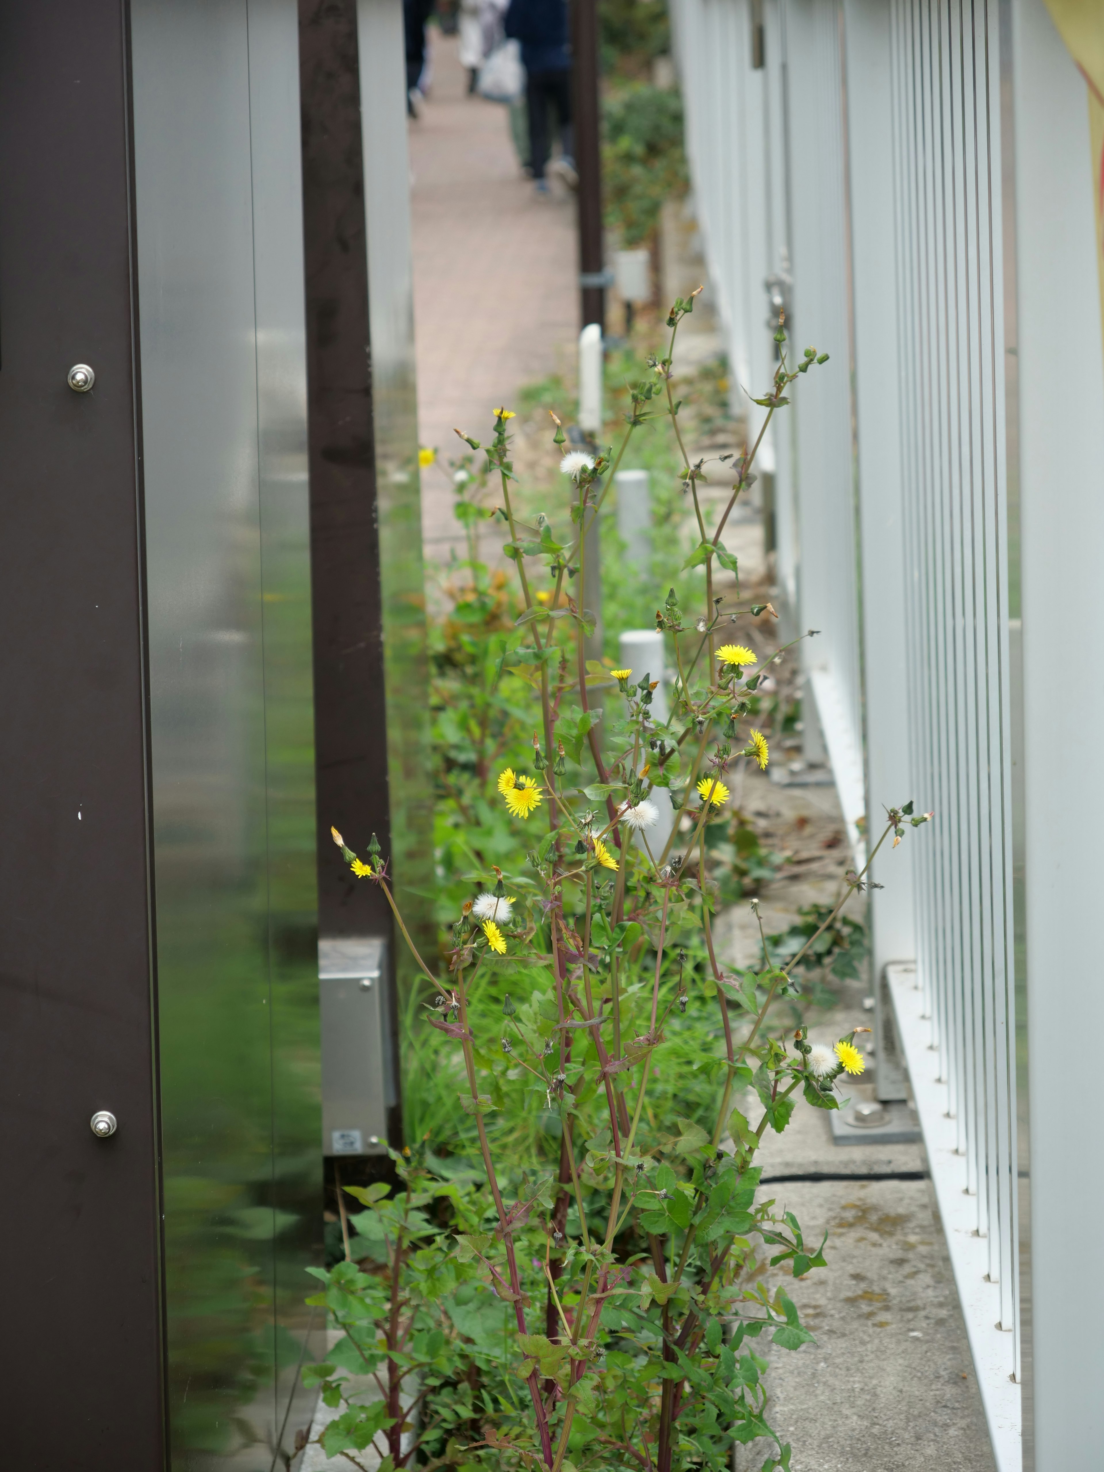
[{"label": "small grey metal box at the foot of the brown post", "polygon": [[318,942],[322,1154],[386,1156],[394,1103],[383,936]]}]

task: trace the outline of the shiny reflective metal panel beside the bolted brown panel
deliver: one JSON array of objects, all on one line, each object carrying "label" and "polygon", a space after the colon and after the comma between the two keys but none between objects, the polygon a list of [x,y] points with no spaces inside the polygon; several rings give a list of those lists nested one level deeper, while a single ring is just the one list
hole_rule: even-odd
[{"label": "shiny reflective metal panel beside the bolted brown panel", "polygon": [[319,1235],[293,0],[135,0],[174,1469],[296,1429]]}]

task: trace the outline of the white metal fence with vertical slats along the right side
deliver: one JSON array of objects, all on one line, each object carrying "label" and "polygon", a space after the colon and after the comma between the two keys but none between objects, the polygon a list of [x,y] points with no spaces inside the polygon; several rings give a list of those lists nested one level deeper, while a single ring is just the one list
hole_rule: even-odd
[{"label": "white metal fence with vertical slats along the right side", "polygon": [[[998,1465],[1095,1465],[1104,1353],[1079,1313],[1063,1334],[1055,1267],[1058,1203],[1083,1181],[1054,1091],[1027,1089],[1029,1058],[1069,1045],[1058,1016],[1104,1026],[1083,967],[1060,970],[1094,945],[1085,829],[1104,785],[1052,767],[1085,752],[1104,692],[1078,673],[1069,617],[1048,654],[1045,617],[1061,586],[1073,629],[1095,623],[1080,528],[1104,542],[1085,81],[1042,0],[674,15],[735,406],[770,375],[771,299],[795,350],[836,368],[798,383],[768,465],[780,590],[824,630],[805,673],[845,815],[855,836],[891,802],[936,813],[877,864],[879,1058],[892,998]],[[1025,665],[1069,677],[1038,761]],[[880,1064],[883,1097],[895,1083]],[[1061,1089],[1098,1116],[1079,1075]],[[1085,1292],[1104,1310],[1100,1284]]]}]

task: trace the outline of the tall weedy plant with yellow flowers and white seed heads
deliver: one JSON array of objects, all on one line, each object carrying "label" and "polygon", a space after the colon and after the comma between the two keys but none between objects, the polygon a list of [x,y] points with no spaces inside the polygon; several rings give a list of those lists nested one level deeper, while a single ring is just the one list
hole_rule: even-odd
[{"label": "tall weedy plant with yellow flowers and white seed heads", "polygon": [[[346,1407],[321,1438],[327,1454],[356,1466],[375,1447],[384,1472],[408,1465],[721,1472],[733,1443],[757,1438],[771,1448],[764,1472],[790,1465],[789,1443],[767,1418],[762,1341],[798,1350],[813,1335],[767,1275],[802,1278],[826,1266],[824,1242],[808,1244],[793,1213],[762,1198],[757,1156],[765,1132],[783,1130],[799,1100],[839,1107],[839,1085],[863,1072],[855,1036],[867,1029],[827,1047],[810,1044],[804,1026],[776,1035],[768,1014],[798,991],[795,973],[866,886],[885,839],[930,814],[913,815],[911,802],[888,811],[867,866],[846,876],[839,904],[785,967],[765,936],[760,967],[721,967],[707,827],[724,815],[732,768],[768,765],[767,739],[751,718],[762,670],[783,651],[761,664],[754,649],[724,642],[742,614],[773,609],[726,608],[715,568],[737,573],[721,540],[729,515],[755,480],[767,424],[827,355],[805,349],[790,368],[779,328],[779,365],[755,400],[767,409],[758,439],[739,456],[692,462],[673,393],[679,322],[692,309],[693,297],[674,303],[667,352],[649,358],[648,375],[631,387],[617,450],[593,446],[562,458],[573,486],[570,526],[555,528],[543,515],[518,520],[508,409],[495,411],[487,445],[461,436],[500,486],[505,553],[524,599],[517,621],[524,640],[512,658],[539,686],[540,729],[531,771],[505,767],[496,782],[517,824],[517,863],[509,877],[484,876],[481,892],[462,904],[440,974],[411,941],[377,839],[361,858],[334,830],[352,873],[387,896],[430,988],[427,1023],[462,1058],[459,1104],[474,1120],[481,1160],[481,1178],[445,1179],[430,1170],[422,1142],[414,1156],[392,1151],[403,1185],[394,1195],[386,1185],[346,1188],[365,1207],[352,1222],[356,1242],[368,1244],[362,1256],[372,1257],[375,1244],[374,1267],[350,1260],[318,1272],[325,1288],[315,1301],[346,1337],[308,1378],[330,1406]],[[667,420],[676,436],[699,537],[686,567],[704,568],[705,584],[699,615],[683,612],[674,589],[655,614],[677,670],[665,721],[652,710],[651,671],[587,664],[593,620],[580,604],[586,533],[649,420]],[[555,420],[553,445],[564,443]],[[729,487],[712,528],[701,495],[707,464]],[[604,720],[590,704],[602,684],[620,707],[617,718]],[[568,695],[581,710],[565,711]],[[587,761],[593,780],[584,773],[580,782]],[[665,842],[657,836],[659,788],[677,815]],[[677,1116],[654,1119],[646,1108],[664,1029],[690,999],[693,948],[708,967],[724,1038],[724,1054],[702,1060],[715,1089],[711,1130]],[[689,974],[699,972],[690,966]],[[521,988],[503,997],[498,1036],[473,1029],[473,986],[486,979]],[[492,1148],[486,1122],[515,1107],[508,1101],[518,1091],[508,1083],[517,1080],[526,1107],[558,1116],[555,1176],[531,1179]],[[353,1259],[361,1248],[347,1253]],[[375,1376],[378,1395],[362,1400],[347,1372]]]}]

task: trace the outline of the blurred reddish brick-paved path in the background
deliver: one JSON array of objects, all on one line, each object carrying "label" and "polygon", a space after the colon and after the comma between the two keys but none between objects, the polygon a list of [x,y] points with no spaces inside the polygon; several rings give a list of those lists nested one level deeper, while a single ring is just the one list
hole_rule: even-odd
[{"label": "blurred reddish brick-paved path in the background", "polygon": [[[467,96],[455,37],[430,31],[433,85],[409,125],[414,315],[422,445],[484,439],[489,411],[558,371],[578,331],[574,199],[539,197],[517,160],[506,109]],[[452,492],[422,473],[427,556],[461,546]]]}]

